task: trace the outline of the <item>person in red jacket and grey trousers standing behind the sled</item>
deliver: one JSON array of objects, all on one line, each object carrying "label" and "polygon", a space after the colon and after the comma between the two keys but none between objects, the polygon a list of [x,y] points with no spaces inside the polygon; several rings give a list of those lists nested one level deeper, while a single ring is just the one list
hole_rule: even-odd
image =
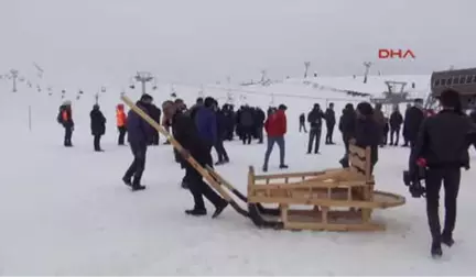
[{"label": "person in red jacket and grey trousers standing behind the sled", "polygon": [[278,147],[280,148],[280,168],[288,168],[288,165],[284,164],[284,153],[285,153],[285,145],[284,145],[284,134],[286,133],[286,115],[285,110],[288,108],[284,104],[280,104],[279,109],[272,112],[268,119],[264,122],[264,130],[268,134],[268,147],[267,152],[264,154],[264,165],[262,167],[262,170],[266,173],[268,171],[268,162],[269,157],[272,153],[274,143],[278,144]]}]

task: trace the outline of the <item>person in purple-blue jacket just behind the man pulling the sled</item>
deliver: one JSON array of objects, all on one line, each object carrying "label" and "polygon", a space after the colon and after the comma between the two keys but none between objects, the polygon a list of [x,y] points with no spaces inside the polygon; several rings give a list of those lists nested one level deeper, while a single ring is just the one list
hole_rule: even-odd
[{"label": "person in purple-blue jacket just behind the man pulling the sled", "polygon": [[216,144],[218,138],[217,118],[214,110],[215,99],[212,97],[205,98],[204,106],[198,108],[195,113],[195,124],[198,130],[198,135],[202,141],[212,152],[212,146]]}]

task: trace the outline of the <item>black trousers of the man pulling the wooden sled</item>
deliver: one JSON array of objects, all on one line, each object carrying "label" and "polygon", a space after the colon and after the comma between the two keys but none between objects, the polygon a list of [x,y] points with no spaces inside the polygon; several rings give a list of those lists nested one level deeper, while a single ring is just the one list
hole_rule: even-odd
[{"label": "black trousers of the man pulling the wooden sled", "polygon": [[[212,160],[212,157],[209,159]],[[212,164],[208,165],[213,166]],[[217,192],[215,192],[215,190],[213,190],[208,186],[208,184],[203,180],[202,175],[197,170],[195,170],[195,168],[193,168],[190,164],[185,166],[184,180],[186,180],[188,185],[188,190],[194,199],[194,209],[206,209],[203,197],[208,199],[208,201],[210,201],[214,206],[218,206],[219,203],[221,203],[221,201],[224,201],[224,199]]]}]

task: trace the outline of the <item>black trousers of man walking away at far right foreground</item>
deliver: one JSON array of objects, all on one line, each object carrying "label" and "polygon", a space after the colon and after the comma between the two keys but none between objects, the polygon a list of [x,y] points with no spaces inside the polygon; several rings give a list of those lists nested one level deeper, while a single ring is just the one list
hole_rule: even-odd
[{"label": "black trousers of man walking away at far right foreground", "polygon": [[440,241],[442,235],[440,224],[440,189],[444,187],[445,198],[445,221],[443,235],[452,236],[456,223],[456,199],[459,190],[461,169],[453,168],[430,168],[426,171],[426,217],[430,225],[430,233],[434,241]]}]

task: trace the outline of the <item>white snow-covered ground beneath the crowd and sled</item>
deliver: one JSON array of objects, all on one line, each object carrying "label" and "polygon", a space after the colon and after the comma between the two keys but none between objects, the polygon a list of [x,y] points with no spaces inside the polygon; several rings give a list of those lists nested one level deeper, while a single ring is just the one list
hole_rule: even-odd
[{"label": "white snow-covered ground beneath the crowd and sled", "polygon": [[[339,84],[327,85],[339,88]],[[180,188],[183,171],[174,163],[170,146],[150,147],[145,191],[132,193],[122,185],[120,178],[131,154],[128,147],[116,145],[118,89],[108,89],[99,99],[109,121],[102,140],[106,152],[94,153],[88,115],[93,95],[76,101],[75,93],[67,93],[74,100],[75,147],[64,148],[63,130],[55,121],[60,95],[48,97],[24,88],[12,93],[9,86],[0,82],[1,277],[475,276],[474,169],[463,174],[456,244],[444,250],[441,262],[429,257],[424,201],[410,198],[401,181],[408,158],[408,149],[401,147],[381,149],[376,168],[378,189],[408,196],[404,207],[376,212],[377,220],[387,222],[386,232],[258,230],[231,209],[216,220],[195,219],[183,213],[191,208],[192,198]],[[175,89],[188,103],[197,97],[196,88],[177,85]],[[324,145],[322,155],[304,154],[307,137],[298,133],[298,114],[307,112],[314,102],[324,106],[326,99],[334,99],[339,113],[347,101],[361,98],[316,92],[292,81],[240,89],[256,93],[236,91],[236,103],[264,108],[272,101],[270,92],[286,95],[275,96],[274,103],[289,107],[290,171],[338,166],[342,144]],[[161,102],[169,98],[170,90],[170,86],[159,86],[152,95]],[[226,101],[227,90],[210,86],[205,95]],[[128,96],[137,99],[139,93],[128,91]],[[340,142],[337,132],[335,141]],[[263,145],[245,146],[235,141],[226,147],[231,163],[218,171],[245,192],[247,167],[261,167]],[[277,152],[270,171],[279,170]]]}]

